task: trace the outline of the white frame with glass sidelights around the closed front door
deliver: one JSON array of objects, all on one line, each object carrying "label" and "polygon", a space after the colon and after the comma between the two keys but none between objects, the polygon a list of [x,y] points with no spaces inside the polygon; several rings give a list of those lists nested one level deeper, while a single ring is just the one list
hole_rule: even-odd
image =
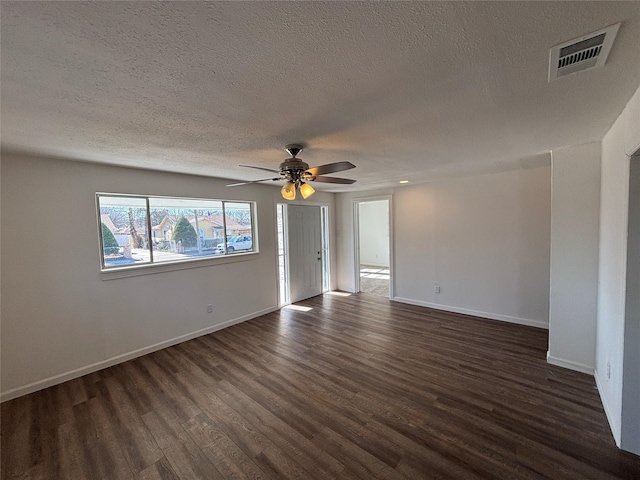
[{"label": "white frame with glass sidelights around the closed front door", "polygon": [[[287,289],[285,299],[286,301],[282,301],[282,282],[280,281],[280,255],[278,251],[278,207],[283,205],[285,208],[284,212],[284,221],[283,221],[283,232],[284,232],[284,283]],[[288,205],[296,205],[296,206],[309,206],[309,207],[320,207],[320,235],[322,236],[322,242],[324,243],[326,240],[327,248],[322,249],[322,293],[328,292],[332,288],[331,283],[331,270],[332,270],[332,259],[331,259],[331,245],[332,245],[332,231],[331,231],[331,205],[324,202],[308,202],[308,201],[282,201],[281,199],[276,200],[274,205],[275,212],[275,242],[276,242],[276,265],[278,266],[277,276],[278,276],[278,306],[285,307],[291,304],[291,289],[289,285],[290,278],[290,264],[289,264],[289,224],[288,224]],[[324,212],[326,212],[326,221]],[[326,287],[326,288],[325,288]]]}]

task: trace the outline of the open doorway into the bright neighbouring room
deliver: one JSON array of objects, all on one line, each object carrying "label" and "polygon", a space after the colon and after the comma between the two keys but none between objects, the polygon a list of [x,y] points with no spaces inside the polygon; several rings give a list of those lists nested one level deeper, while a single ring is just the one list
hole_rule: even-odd
[{"label": "open doorway into the bright neighbouring room", "polygon": [[356,202],[358,291],[391,297],[389,199]]}]

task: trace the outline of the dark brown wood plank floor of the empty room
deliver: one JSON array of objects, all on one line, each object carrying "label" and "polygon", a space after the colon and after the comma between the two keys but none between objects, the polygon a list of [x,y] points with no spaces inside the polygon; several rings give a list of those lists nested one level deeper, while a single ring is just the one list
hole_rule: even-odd
[{"label": "dark brown wood plank floor of the empty room", "polygon": [[2,479],[640,478],[546,331],[301,305],[3,403]]}]

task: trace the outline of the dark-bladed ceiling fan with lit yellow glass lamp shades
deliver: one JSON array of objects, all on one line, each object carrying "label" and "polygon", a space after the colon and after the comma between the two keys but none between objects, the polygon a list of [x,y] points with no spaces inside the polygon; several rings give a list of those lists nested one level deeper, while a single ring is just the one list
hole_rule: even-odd
[{"label": "dark-bladed ceiling fan with lit yellow glass lamp shades", "polygon": [[278,170],[264,167],[254,167],[252,165],[240,165],[241,167],[257,168],[258,170],[266,170],[267,172],[277,173],[279,177],[275,178],[263,178],[262,180],[253,180],[248,182],[230,183],[227,187],[237,187],[239,185],[247,185],[249,183],[266,182],[269,180],[278,181],[286,180],[286,184],[280,190],[282,197],[285,200],[294,200],[296,198],[296,190],[300,190],[300,194],[303,198],[308,198],[315,190],[311,185],[306,182],[321,182],[321,183],[340,183],[343,185],[350,185],[355,183],[355,180],[350,178],[337,178],[337,177],[325,177],[323,175],[327,173],[342,172],[355,168],[356,166],[351,162],[334,162],[327,163],[326,165],[320,165],[318,167],[311,167],[299,158],[296,158],[304,147],[297,143],[292,143],[285,147],[285,151],[291,155],[291,158],[287,158],[280,164]]}]

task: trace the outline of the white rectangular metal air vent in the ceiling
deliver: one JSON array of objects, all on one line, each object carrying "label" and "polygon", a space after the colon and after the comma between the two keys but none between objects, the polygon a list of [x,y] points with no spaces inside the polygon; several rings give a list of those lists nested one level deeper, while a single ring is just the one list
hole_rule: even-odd
[{"label": "white rectangular metal air vent in the ceiling", "polygon": [[556,45],[549,52],[549,81],[604,65],[620,24]]}]

